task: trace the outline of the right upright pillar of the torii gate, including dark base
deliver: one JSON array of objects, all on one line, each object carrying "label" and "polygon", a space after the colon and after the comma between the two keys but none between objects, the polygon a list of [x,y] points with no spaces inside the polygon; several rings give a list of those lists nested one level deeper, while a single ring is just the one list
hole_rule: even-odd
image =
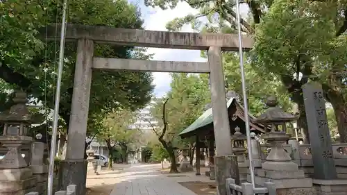
[{"label": "right upright pillar of the torii gate, including dark base", "polygon": [[[208,49],[210,65],[210,85],[216,151],[214,156],[215,175],[219,195],[226,195],[226,178],[235,178],[237,160],[232,155],[226,90],[221,59],[221,48],[211,46]],[[236,167],[235,167],[236,166]]]}]

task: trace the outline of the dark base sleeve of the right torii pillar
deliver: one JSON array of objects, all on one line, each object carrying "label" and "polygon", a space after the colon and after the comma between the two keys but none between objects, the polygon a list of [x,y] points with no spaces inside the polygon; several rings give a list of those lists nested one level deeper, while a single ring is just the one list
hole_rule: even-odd
[{"label": "dark base sleeve of the right torii pillar", "polygon": [[217,190],[219,195],[226,195],[226,178],[233,178],[239,185],[239,167],[236,155],[214,156]]}]

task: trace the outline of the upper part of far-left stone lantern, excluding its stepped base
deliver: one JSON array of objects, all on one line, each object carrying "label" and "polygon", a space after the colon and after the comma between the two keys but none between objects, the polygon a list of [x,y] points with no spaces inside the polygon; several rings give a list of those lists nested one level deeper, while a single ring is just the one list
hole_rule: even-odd
[{"label": "upper part of far-left stone lantern, excluding its stepped base", "polygon": [[33,141],[27,136],[31,125],[31,115],[26,108],[26,93],[17,91],[13,98],[15,105],[10,110],[0,114],[0,123],[3,124],[3,136],[0,143],[8,149],[5,157],[0,160],[0,169],[19,169],[28,167],[22,157],[20,149]]}]

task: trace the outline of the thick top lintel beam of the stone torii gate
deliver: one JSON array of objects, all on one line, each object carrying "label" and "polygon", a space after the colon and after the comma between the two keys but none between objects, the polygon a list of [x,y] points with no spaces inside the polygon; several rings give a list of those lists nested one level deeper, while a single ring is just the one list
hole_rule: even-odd
[{"label": "thick top lintel beam of the stone torii gate", "polygon": [[[58,29],[57,29],[58,28]],[[51,24],[42,29],[42,35],[49,40],[60,37],[61,24]],[[46,33],[47,30],[47,33]],[[131,28],[112,28],[108,26],[87,26],[81,24],[67,24],[66,40],[88,38],[96,43],[119,44],[129,46],[144,46],[169,49],[208,50],[210,46],[221,47],[222,51],[238,51],[239,42],[236,34],[221,33],[178,33],[168,31],[146,31]],[[242,37],[244,50],[253,46],[253,39]]]}]

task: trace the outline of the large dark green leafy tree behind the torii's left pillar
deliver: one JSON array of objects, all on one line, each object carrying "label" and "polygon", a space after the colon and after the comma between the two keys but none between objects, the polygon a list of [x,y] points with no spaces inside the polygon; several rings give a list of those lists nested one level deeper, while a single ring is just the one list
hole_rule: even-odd
[{"label": "large dark green leafy tree behind the torii's left pillar", "polygon": [[[3,93],[22,88],[42,101],[45,108],[53,109],[56,92],[58,42],[46,42],[38,37],[39,31],[49,23],[60,22],[60,1],[1,1],[0,2],[0,110],[8,105]],[[68,22],[119,28],[142,28],[143,21],[136,6],[124,0],[69,1]],[[149,59],[146,49],[131,46],[96,44],[94,56],[105,58]],[[65,63],[62,73],[59,115],[69,126],[76,43],[65,43]],[[97,129],[100,121],[115,108],[137,109],[151,99],[153,86],[150,73],[128,71],[94,71],[90,97],[88,134]],[[33,100],[33,99],[32,99]],[[67,129],[67,128],[66,128]],[[67,129],[68,130],[68,129]]]}]

